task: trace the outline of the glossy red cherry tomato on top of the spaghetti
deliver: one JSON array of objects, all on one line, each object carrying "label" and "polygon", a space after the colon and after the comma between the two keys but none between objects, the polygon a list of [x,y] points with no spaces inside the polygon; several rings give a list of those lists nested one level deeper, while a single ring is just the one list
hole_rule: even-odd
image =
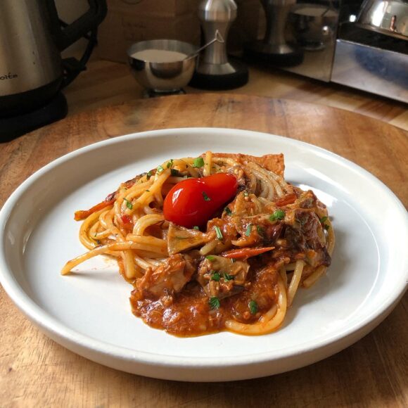
[{"label": "glossy red cherry tomato on top of the spaghetti", "polygon": [[237,188],[236,178],[227,173],[180,181],[165,198],[165,219],[186,228],[204,225],[223,204],[234,198]]}]

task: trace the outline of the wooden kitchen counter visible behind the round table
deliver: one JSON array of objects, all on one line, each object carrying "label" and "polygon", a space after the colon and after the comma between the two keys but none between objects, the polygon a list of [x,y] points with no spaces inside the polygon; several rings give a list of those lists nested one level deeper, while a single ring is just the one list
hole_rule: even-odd
[{"label": "wooden kitchen counter visible behind the round table", "polygon": [[[190,87],[186,91],[189,94],[204,92]],[[222,93],[225,92],[318,103],[361,113],[408,130],[408,109],[405,103],[274,68],[253,65],[250,67],[250,81],[246,86]],[[127,65],[92,60],[88,70],[82,72],[64,93],[68,99],[69,115],[74,115],[84,110],[141,98],[143,89],[132,77]]]}]

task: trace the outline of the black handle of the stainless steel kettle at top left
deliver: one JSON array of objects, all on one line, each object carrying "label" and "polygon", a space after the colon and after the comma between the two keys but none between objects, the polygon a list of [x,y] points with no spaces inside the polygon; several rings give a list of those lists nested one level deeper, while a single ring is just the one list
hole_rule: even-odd
[{"label": "black handle of the stainless steel kettle at top left", "polygon": [[56,45],[60,51],[77,42],[91,30],[96,29],[105,18],[108,8],[106,0],[88,0],[89,10],[73,23],[61,27],[55,0],[45,0],[49,12],[49,24]]}]

